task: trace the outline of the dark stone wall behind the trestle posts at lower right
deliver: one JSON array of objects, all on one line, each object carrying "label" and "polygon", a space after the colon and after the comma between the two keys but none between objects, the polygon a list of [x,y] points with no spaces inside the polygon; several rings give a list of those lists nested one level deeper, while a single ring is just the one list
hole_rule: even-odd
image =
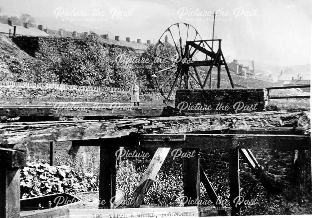
[{"label": "dark stone wall behind the trestle posts at lower right", "polygon": [[[311,151],[259,150],[252,151],[252,153],[266,174],[276,182],[282,185],[297,183],[306,188],[311,184]],[[228,158],[226,149],[214,149],[200,153],[201,165],[207,175],[211,177],[228,173]],[[241,155],[240,175],[245,179],[255,178],[251,168]]]}]

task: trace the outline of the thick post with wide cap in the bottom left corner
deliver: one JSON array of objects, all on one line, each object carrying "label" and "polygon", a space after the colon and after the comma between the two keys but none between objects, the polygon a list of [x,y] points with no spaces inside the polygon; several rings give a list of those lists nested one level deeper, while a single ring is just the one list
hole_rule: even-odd
[{"label": "thick post with wide cap in the bottom left corner", "polygon": [[26,151],[0,148],[0,217],[20,217],[20,167],[26,165]]}]

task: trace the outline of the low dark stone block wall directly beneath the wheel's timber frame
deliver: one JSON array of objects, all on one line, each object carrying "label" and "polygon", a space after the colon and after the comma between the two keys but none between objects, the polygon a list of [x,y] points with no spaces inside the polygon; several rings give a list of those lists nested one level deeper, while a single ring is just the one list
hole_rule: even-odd
[{"label": "low dark stone block wall directly beneath the wheel's timber frame", "polygon": [[175,107],[180,113],[233,114],[263,111],[268,102],[265,88],[180,89],[176,92]]}]

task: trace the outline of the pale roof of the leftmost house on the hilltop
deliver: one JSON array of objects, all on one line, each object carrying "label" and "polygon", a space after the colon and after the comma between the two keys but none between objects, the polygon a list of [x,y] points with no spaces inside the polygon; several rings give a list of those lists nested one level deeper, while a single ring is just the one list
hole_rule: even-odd
[{"label": "pale roof of the leftmost house on the hilltop", "polygon": [[[11,30],[11,34],[14,32],[14,26],[10,26],[8,24],[0,23],[0,32],[9,34]],[[38,28],[29,27],[25,28],[23,26],[16,26],[16,35],[29,35],[29,36],[49,36],[45,31],[39,30]]]}]

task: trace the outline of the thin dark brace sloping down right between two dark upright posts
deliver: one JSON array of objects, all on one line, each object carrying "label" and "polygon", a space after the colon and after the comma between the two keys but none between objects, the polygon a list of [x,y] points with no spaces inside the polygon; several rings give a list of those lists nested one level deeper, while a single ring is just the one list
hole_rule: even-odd
[{"label": "thin dark brace sloping down right between two dark upright posts", "polygon": [[[217,196],[217,193],[213,189],[207,175],[205,174],[204,170],[202,169],[202,166],[200,165],[200,181],[203,183],[206,192],[211,199],[213,206],[219,208],[219,207],[224,207],[222,205],[222,202],[219,201],[219,198]],[[218,214],[220,216],[227,216],[227,212],[225,210],[218,210]]]}]

